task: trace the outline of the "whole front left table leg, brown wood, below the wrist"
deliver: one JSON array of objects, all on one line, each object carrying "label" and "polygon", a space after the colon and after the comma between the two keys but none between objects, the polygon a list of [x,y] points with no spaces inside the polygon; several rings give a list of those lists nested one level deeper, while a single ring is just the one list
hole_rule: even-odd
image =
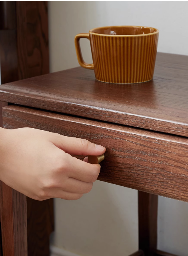
[{"label": "whole front left table leg, brown wood, below the wrist", "polygon": [[3,256],[28,256],[26,196],[0,181]]}]

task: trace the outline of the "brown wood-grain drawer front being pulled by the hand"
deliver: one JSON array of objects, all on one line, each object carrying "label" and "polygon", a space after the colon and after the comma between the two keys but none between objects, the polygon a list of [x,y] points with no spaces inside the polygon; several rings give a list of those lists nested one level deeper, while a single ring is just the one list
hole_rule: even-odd
[{"label": "brown wood-grain drawer front being pulled by the hand", "polygon": [[101,181],[188,201],[188,138],[10,105],[7,129],[33,127],[106,147]]}]

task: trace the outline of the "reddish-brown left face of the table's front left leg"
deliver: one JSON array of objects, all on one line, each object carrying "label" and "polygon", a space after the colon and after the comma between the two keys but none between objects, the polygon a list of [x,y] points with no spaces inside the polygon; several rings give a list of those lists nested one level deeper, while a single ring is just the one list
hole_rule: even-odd
[{"label": "reddish-brown left face of the table's front left leg", "polygon": [[0,181],[0,208],[3,256],[17,256],[14,254],[12,188],[2,181]]}]

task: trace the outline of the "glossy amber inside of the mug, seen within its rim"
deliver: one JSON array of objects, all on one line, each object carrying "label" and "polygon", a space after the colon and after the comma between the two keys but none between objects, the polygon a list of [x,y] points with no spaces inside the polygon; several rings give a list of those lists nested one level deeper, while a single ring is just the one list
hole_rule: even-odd
[{"label": "glossy amber inside of the mug, seen within its rim", "polygon": [[158,32],[158,29],[142,26],[107,26],[101,28],[93,28],[89,32],[108,36],[132,36],[151,34],[154,32]]}]

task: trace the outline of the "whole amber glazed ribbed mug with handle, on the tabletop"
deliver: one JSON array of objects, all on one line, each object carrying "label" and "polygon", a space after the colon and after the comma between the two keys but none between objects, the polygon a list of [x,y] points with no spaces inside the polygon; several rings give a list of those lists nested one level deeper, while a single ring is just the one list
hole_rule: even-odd
[{"label": "whole amber glazed ribbed mug with handle, on the tabletop", "polygon": [[[81,67],[94,69],[106,83],[142,83],[153,78],[159,30],[142,26],[107,26],[77,34],[74,42]],[[82,58],[80,38],[90,40],[93,64]]]}]

